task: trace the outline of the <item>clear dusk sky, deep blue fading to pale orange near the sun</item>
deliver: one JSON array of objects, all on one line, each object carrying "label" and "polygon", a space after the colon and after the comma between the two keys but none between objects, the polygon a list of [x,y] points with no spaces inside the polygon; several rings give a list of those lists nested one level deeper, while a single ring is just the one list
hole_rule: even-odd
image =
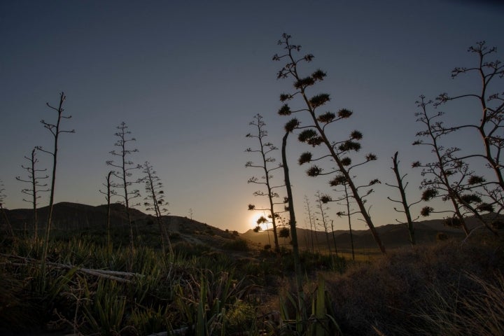
[{"label": "clear dusk sky, deep blue fading to pale orange near the sun", "polygon": [[[420,125],[414,113],[420,94],[474,90],[470,78],[452,79],[455,66],[475,64],[470,45],[485,40],[504,48],[504,6],[499,1],[24,1],[0,2],[0,180],[3,207],[29,208],[15,180],[27,178],[21,165],[34,146],[50,149],[52,136],[40,121],[55,122],[64,92],[70,119],[59,142],[55,202],[105,204],[107,160],[116,127],[125,122],[137,139],[130,160],[148,161],[164,184],[169,212],[202,223],[245,232],[255,226],[265,197],[247,183],[260,162],[246,153],[257,146],[246,136],[260,113],[268,140],[281,147],[286,117],[278,116],[279,94],[291,80],[277,80],[283,62],[277,44],[283,33],[315,59],[304,69],[323,69],[328,77],[313,94],[327,92],[331,111],[353,111],[350,120],[330,129],[332,139],[351,130],[363,132],[363,155],[378,160],[358,170],[358,181],[378,178],[381,185],[367,201],[375,225],[402,220],[390,167],[399,152],[409,181],[408,197],[421,191],[411,162],[429,160],[426,148],[412,146]],[[502,59],[502,57],[500,56]],[[302,69],[302,68],[301,68]],[[502,90],[500,91],[502,92]],[[478,118],[469,105],[451,118]],[[447,111],[449,108],[447,107]],[[469,146],[469,145],[468,145]],[[304,144],[290,137],[290,179],[297,225],[306,226],[304,198],[315,206],[317,191],[337,197],[324,176],[310,178],[297,165]],[[274,153],[280,160],[280,153]],[[38,167],[52,169],[50,157],[38,153]],[[330,169],[330,162],[323,167]],[[282,184],[280,172],[274,183]],[[141,172],[133,178],[141,177]],[[138,186],[142,198],[146,193]],[[41,194],[40,206],[48,204]],[[113,202],[118,201],[112,200]],[[143,202],[143,200],[140,200]],[[414,208],[418,214],[421,206]],[[139,209],[142,209],[139,207]],[[347,228],[331,204],[335,229]],[[363,221],[354,228],[365,229]]]}]

